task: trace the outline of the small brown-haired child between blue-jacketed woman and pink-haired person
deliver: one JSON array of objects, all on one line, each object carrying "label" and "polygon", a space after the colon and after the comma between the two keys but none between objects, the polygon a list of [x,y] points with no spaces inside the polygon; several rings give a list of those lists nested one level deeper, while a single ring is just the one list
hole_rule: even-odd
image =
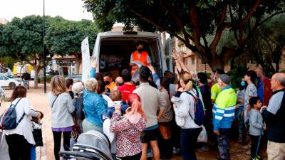
[{"label": "small brown-haired child between blue-jacketed woman and pink-haired person", "polygon": [[115,104],[120,104],[121,112],[125,114],[125,110],[129,107],[125,102],[122,101],[123,96],[119,90],[113,90],[110,92],[110,100],[108,102],[108,108],[102,113],[103,119],[103,132],[108,137],[111,144],[111,153],[115,155],[115,133],[110,131],[110,119],[112,118],[113,112],[115,111]]}]

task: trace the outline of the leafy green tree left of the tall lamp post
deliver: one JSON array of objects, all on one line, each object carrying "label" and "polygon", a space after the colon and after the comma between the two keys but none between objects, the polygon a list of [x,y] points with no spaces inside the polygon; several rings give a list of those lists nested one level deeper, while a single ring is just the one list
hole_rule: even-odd
[{"label": "leafy green tree left of the tall lamp post", "polygon": [[1,56],[10,56],[33,65],[34,84],[37,87],[38,72],[43,60],[43,18],[41,16],[13,18],[11,22],[2,24],[0,28]]}]

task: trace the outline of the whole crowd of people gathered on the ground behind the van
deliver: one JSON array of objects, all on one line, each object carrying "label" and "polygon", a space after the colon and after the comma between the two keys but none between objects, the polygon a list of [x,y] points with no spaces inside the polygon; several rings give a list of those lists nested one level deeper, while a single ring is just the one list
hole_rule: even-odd
[{"label": "whole crowd of people gathered on the ground behind the van", "polygon": [[[285,159],[285,73],[269,79],[262,68],[249,70],[236,90],[224,70],[214,70],[212,78],[196,75],[179,55],[173,58],[177,70],[165,71],[162,78],[151,64],[142,65],[139,85],[132,80],[135,70],[123,70],[114,81],[110,73],[96,72],[96,60],[86,82],[54,76],[48,102],[55,159],[60,159],[61,144],[64,150],[71,149],[72,132],[95,130],[108,137],[111,153],[123,160],[146,160],[150,154],[155,160],[171,159],[173,153],[195,160],[196,151],[213,147],[219,151],[217,159],[229,160],[234,121],[238,142],[247,144],[245,154],[251,159],[262,159],[262,143],[267,143],[268,159]],[[36,125],[29,117],[41,124],[43,114],[31,109],[26,92],[26,87],[17,86],[11,97],[17,117],[24,118],[16,129],[3,130],[11,160],[31,159],[35,146],[42,145],[35,142],[41,139],[33,134]],[[197,119],[199,102],[202,124]],[[197,145],[198,137],[205,136],[202,132],[207,133],[207,141]]]}]

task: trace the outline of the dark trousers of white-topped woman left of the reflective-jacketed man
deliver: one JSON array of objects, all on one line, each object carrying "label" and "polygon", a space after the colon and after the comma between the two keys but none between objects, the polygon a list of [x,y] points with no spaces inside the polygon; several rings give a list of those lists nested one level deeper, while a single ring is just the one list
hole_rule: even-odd
[{"label": "dark trousers of white-topped woman left of the reflective-jacketed man", "polygon": [[195,146],[202,128],[181,129],[180,149],[183,160],[197,160]]}]

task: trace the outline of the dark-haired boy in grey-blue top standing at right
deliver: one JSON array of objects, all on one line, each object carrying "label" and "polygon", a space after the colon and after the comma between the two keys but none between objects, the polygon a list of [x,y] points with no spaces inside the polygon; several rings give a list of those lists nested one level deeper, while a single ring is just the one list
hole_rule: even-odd
[{"label": "dark-haired boy in grey-blue top standing at right", "polygon": [[259,112],[262,106],[259,97],[251,97],[249,99],[249,105],[252,107],[249,112],[249,135],[252,141],[251,159],[255,160],[257,159],[261,146],[262,129],[266,129],[266,127],[263,127],[263,118]]}]

